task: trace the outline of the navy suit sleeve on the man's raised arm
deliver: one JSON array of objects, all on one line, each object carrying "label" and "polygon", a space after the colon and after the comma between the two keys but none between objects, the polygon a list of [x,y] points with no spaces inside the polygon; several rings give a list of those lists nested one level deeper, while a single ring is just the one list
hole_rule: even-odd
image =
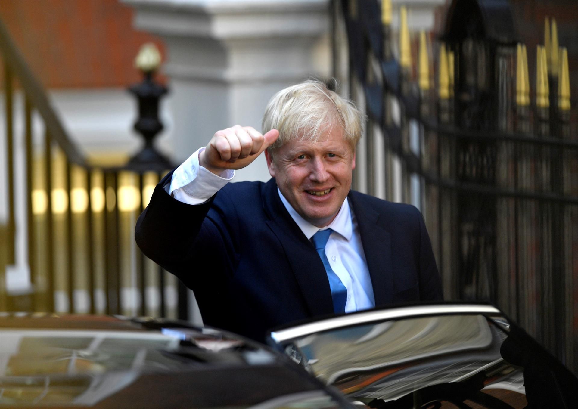
[{"label": "navy suit sleeve on the man's raised arm", "polygon": [[218,200],[213,196],[202,205],[180,202],[164,188],[171,176],[169,173],[155,187],[149,205],[136,221],[139,248],[187,285],[193,277],[203,276],[197,272],[210,269],[212,276],[231,273],[237,257],[231,233],[235,226],[226,216],[231,209],[223,209],[228,196],[219,192]]}]

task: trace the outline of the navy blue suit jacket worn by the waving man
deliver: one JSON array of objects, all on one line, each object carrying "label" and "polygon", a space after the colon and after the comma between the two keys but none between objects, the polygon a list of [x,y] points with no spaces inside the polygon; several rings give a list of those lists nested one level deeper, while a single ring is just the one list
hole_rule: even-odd
[{"label": "navy blue suit jacket worn by the waving man", "polygon": [[[288,214],[275,179],[229,183],[208,203],[166,193],[169,173],[140,215],[144,254],[191,288],[206,325],[262,341],[273,326],[332,314],[314,246]],[[376,306],[442,299],[423,217],[413,206],[350,191]]]}]

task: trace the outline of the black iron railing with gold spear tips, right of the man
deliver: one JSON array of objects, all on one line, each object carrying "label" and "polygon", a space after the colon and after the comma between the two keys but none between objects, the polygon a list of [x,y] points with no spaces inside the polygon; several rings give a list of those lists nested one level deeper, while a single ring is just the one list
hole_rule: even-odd
[{"label": "black iron railing with gold spear tips, right of the man", "polygon": [[506,0],[454,0],[444,31],[418,41],[405,10],[394,32],[388,7],[333,3],[335,75],[368,118],[355,187],[421,209],[446,299],[494,302],[578,371],[578,135],[564,49],[536,51],[531,87]]}]

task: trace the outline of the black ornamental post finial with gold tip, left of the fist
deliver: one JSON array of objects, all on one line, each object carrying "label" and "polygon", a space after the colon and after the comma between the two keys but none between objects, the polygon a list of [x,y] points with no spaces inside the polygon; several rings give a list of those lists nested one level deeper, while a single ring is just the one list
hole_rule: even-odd
[{"label": "black ornamental post finial with gold tip, left of the fist", "polygon": [[144,138],[144,147],[127,163],[127,167],[144,172],[146,170],[165,170],[173,168],[173,164],[157,151],[153,140],[162,131],[162,122],[158,118],[158,105],[167,88],[154,81],[154,73],[161,62],[161,56],[153,43],[144,44],[135,60],[135,65],[143,73],[141,83],[128,88],[135,95],[139,104],[139,117],[134,128]]}]

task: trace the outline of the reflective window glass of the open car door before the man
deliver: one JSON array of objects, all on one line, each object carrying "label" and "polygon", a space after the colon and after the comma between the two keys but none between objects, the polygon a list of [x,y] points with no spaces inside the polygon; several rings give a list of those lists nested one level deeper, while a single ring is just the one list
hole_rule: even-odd
[{"label": "reflective window glass of the open car door before the man", "polygon": [[415,407],[414,399],[479,407],[499,399],[522,408],[523,370],[502,356],[507,326],[477,314],[391,319],[307,334],[284,348],[320,380],[369,407]]}]

